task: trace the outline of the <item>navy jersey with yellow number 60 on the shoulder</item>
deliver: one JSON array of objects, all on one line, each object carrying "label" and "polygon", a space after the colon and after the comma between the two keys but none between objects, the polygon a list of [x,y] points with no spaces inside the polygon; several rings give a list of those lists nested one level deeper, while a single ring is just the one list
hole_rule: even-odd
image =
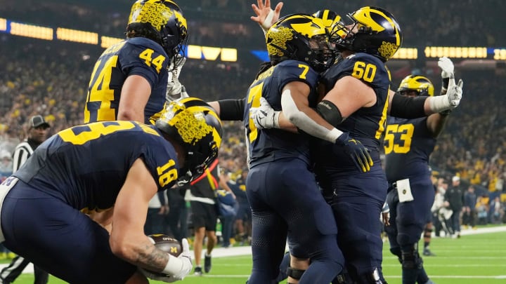
[{"label": "navy jersey with yellow number 60 on the shoulder", "polygon": [[[367,53],[355,53],[347,58],[340,59],[335,65],[323,74],[321,83],[325,90],[331,90],[337,80],[344,76],[353,76],[370,86],[376,93],[376,103],[372,107],[362,107],[336,126],[343,132],[349,132],[351,137],[360,140],[362,144],[375,153],[372,158],[379,158],[380,138],[387,121],[388,93],[390,75],[384,63]],[[339,145],[318,140],[315,145],[316,162],[323,167],[339,168],[339,170],[352,170],[354,165],[344,149]],[[333,156],[329,156],[334,154]]]}]

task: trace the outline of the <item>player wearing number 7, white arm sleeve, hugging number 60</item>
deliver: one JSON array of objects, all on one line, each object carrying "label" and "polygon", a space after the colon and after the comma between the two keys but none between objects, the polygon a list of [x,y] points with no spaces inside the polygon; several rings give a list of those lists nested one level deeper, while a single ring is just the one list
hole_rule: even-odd
[{"label": "player wearing number 7, white arm sleeve, hugging number 60", "polygon": [[[365,148],[359,142],[350,143],[348,135],[311,108],[316,104],[318,72],[334,60],[323,21],[306,14],[287,15],[268,30],[266,44],[271,65],[249,87],[242,119],[248,142],[246,187],[253,226],[249,284],[277,283],[286,241],[292,255],[289,283],[330,283],[342,270],[344,259],[335,239],[335,219],[311,171],[309,139],[295,127],[294,133],[258,130],[250,109],[266,100],[274,109],[283,109],[294,126],[346,144],[358,159],[365,159]],[[309,266],[306,259],[311,259]]]}]

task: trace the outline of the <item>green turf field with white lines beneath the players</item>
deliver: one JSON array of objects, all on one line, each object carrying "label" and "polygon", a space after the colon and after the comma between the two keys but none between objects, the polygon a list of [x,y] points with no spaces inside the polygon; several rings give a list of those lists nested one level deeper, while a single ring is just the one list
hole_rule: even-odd
[{"label": "green turf field with white lines beneath the players", "polygon": [[[424,257],[424,266],[435,283],[506,283],[506,232],[467,235],[458,239],[433,238],[431,250],[436,256]],[[400,284],[401,267],[396,257],[390,255],[387,243],[384,246],[383,264],[384,275],[389,284]],[[249,256],[214,257],[211,273],[202,277],[190,275],[179,283],[243,284],[250,269]],[[32,284],[33,275],[22,274],[15,283]],[[65,282],[50,278],[49,283]]]}]

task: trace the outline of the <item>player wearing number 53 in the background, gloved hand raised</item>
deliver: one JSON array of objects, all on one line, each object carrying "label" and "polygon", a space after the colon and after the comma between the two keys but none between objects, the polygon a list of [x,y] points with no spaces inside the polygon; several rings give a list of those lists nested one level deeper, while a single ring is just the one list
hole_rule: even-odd
[{"label": "player wearing number 53 in the background, gloved hand raised", "polygon": [[[443,88],[446,93],[448,79],[453,77],[453,62],[441,58]],[[410,97],[434,96],[434,85],[424,76],[409,75],[401,81],[398,95]],[[436,138],[443,130],[449,112],[420,119],[387,118],[384,135],[385,172],[389,182],[387,202],[392,222],[385,226],[390,251],[402,264],[403,284],[433,283],[423,267],[418,252],[418,241],[424,226],[430,221],[434,203],[434,186],[429,168],[429,156],[434,151]],[[430,235],[430,231],[429,231]]]}]

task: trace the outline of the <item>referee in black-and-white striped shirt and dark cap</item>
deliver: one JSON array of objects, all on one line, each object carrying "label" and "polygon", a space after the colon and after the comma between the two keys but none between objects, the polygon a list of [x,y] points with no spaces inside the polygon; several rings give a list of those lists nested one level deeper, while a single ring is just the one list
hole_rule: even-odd
[{"label": "referee in black-and-white striped shirt and dark cap", "polygon": [[[19,170],[27,159],[32,156],[33,151],[48,138],[48,128],[51,126],[44,120],[44,117],[32,116],[28,123],[30,129],[28,130],[27,139],[18,144],[14,150],[13,173]],[[13,283],[28,264],[30,262],[27,259],[19,255],[14,257],[11,264],[0,271],[0,283]],[[48,273],[37,266],[34,266],[34,278],[34,284],[48,283]]]}]

